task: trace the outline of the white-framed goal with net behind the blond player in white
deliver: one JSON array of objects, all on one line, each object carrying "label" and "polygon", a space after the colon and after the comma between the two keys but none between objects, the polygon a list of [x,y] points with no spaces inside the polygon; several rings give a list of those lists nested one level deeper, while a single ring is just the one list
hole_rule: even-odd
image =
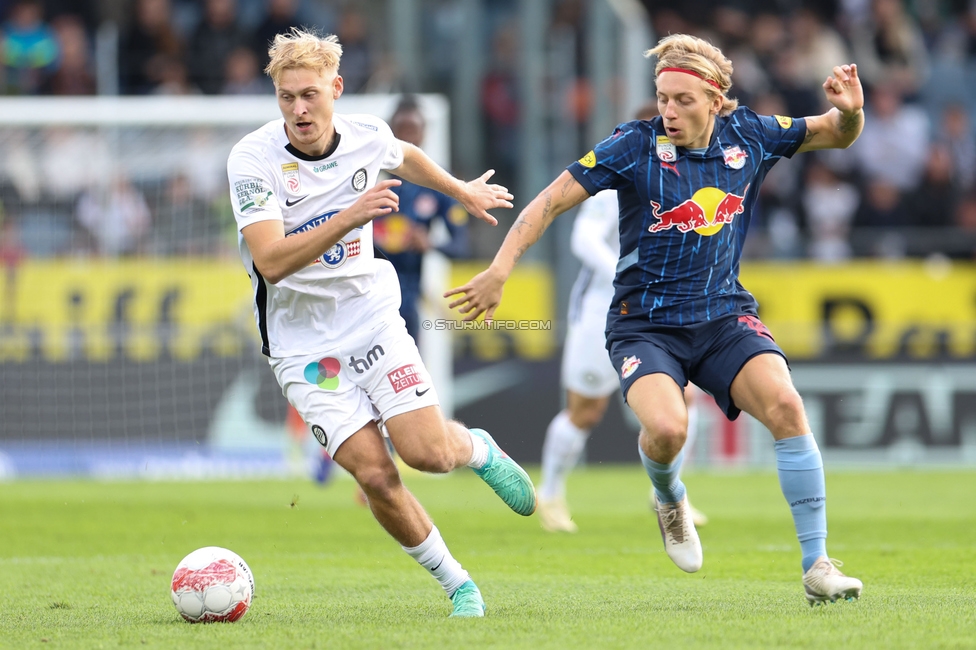
[{"label": "white-framed goal with net behind the blond player in white", "polygon": [[[336,110],[389,119],[398,99]],[[447,100],[419,100],[450,169]],[[277,117],[271,95],[0,99],[0,478],[305,471],[226,180],[231,147]],[[425,260],[426,295],[448,270]],[[448,336],[420,346],[450,413]]]}]

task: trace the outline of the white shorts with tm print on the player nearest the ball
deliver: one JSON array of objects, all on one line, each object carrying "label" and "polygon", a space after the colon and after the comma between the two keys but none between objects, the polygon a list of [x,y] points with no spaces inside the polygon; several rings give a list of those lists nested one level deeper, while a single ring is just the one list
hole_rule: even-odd
[{"label": "white shorts with tm print on the player nearest the ball", "polygon": [[281,392],[332,456],[370,422],[439,404],[402,320],[325,352],[270,363]]}]

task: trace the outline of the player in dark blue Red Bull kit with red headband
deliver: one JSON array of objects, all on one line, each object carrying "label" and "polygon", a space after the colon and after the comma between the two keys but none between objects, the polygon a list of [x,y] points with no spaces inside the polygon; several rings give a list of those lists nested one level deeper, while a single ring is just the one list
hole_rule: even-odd
[{"label": "player in dark blue Red Bull kit with red headband", "polygon": [[739,283],[739,257],[759,186],[783,156],[849,147],[864,125],[854,65],[823,84],[833,108],[792,119],[759,116],[727,96],[732,63],[694,36],[675,34],[657,56],[653,120],[622,124],[571,164],[519,215],[491,266],[445,295],[466,319],[491,318],[525,251],[559,214],[618,191],[620,260],[607,347],[641,423],[638,449],[654,486],[658,525],[674,563],[695,572],[702,548],[678,473],[688,429],[682,391],[710,393],[729,419],[754,416],[775,439],[776,467],[802,552],[808,601],[856,598],[861,581],[827,555],[820,450],[786,357]]}]

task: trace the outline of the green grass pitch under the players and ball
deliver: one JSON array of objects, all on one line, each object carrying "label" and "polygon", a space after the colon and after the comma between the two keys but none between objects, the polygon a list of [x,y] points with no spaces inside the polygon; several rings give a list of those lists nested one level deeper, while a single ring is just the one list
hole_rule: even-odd
[{"label": "green grass pitch under the players and ball", "polygon": [[[544,533],[471,472],[408,476],[488,605],[450,603],[357,505],[307,481],[0,484],[2,648],[973,648],[976,472],[827,477],[832,556],[857,602],[811,608],[776,475],[689,473],[705,565],[664,554],[635,466],[575,473],[580,532]],[[190,625],[169,582],[195,548],[254,572],[238,623]]]}]

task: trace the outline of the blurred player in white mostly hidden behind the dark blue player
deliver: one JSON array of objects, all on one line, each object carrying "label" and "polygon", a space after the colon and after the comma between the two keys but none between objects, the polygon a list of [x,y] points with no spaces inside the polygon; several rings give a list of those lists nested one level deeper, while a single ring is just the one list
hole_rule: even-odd
[{"label": "blurred player in white mostly hidden behind the dark blue player", "polygon": [[[657,115],[657,102],[650,102],[634,118],[649,120]],[[620,257],[619,215],[616,190],[604,190],[580,207],[573,222],[570,247],[583,267],[570,294],[569,327],[563,346],[561,377],[566,408],[549,423],[542,445],[539,523],[549,532],[577,530],[566,503],[566,476],[579,463],[590,432],[603,420],[610,398],[620,388],[603,333]],[[698,403],[690,387],[685,390],[685,403],[686,446],[690,449],[698,429]],[[708,518],[689,507],[695,525],[704,526]]]}]

